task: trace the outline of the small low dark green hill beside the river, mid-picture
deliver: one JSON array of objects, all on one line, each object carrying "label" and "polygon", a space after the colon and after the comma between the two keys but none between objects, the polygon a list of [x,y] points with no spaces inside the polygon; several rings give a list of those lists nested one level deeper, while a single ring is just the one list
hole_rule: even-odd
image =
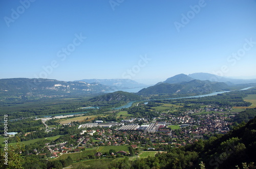
[{"label": "small low dark green hill beside the river, mid-picture", "polygon": [[104,94],[101,96],[97,96],[94,98],[91,98],[89,101],[95,102],[95,101],[135,101],[135,100],[141,100],[142,98],[140,96],[137,96],[132,93],[123,92],[123,91],[117,91],[113,93]]}]

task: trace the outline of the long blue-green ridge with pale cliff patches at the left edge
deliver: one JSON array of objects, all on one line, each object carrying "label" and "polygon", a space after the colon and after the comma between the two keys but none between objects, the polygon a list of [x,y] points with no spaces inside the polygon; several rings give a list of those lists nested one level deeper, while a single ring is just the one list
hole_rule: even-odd
[{"label": "long blue-green ridge with pale cliff patches at the left edge", "polygon": [[111,91],[100,83],[83,81],[59,81],[42,78],[9,78],[0,79],[0,95],[3,96],[56,96],[81,93],[99,93]]}]

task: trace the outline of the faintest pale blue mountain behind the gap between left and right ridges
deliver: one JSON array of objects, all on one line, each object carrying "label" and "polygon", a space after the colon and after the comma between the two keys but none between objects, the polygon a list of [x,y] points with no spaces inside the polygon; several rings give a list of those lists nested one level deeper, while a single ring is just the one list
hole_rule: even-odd
[{"label": "faintest pale blue mountain behind the gap between left and right ridges", "polygon": [[142,83],[138,83],[131,79],[82,79],[82,80],[75,80],[75,81],[84,81],[87,83],[97,82],[105,86],[109,86],[112,89],[131,89],[131,88],[140,88],[146,87]]}]

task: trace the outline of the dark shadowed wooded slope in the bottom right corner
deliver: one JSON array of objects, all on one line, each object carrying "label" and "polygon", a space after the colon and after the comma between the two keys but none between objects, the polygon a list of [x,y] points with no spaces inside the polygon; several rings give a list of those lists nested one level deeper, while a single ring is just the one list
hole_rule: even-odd
[{"label": "dark shadowed wooded slope in the bottom right corner", "polygon": [[198,151],[199,159],[205,162],[206,168],[236,168],[236,165],[242,168],[243,162],[255,163],[256,117],[219,138],[198,142],[186,150]]}]

